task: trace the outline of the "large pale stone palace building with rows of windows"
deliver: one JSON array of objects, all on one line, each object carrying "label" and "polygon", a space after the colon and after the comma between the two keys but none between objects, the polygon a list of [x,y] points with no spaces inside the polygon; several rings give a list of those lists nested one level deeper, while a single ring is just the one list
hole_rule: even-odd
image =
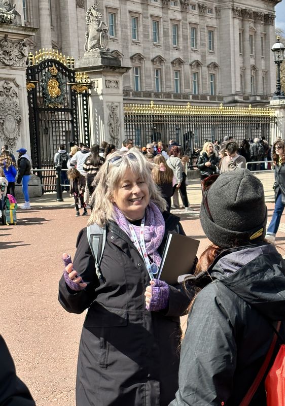
[{"label": "large pale stone palace building with rows of windows", "polygon": [[[40,27],[32,50],[83,55],[93,0],[17,1],[25,24]],[[124,100],[267,104],[275,90],[271,46],[280,1],[101,0],[111,52],[132,67],[124,75]]]}]

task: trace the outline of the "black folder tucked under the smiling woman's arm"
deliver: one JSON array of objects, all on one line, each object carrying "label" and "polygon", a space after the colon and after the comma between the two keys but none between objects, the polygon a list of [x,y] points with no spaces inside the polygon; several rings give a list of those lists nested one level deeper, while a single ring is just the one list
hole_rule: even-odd
[{"label": "black folder tucked under the smiling woman's arm", "polygon": [[190,274],[200,241],[169,232],[162,254],[157,279],[175,285],[180,275]]}]

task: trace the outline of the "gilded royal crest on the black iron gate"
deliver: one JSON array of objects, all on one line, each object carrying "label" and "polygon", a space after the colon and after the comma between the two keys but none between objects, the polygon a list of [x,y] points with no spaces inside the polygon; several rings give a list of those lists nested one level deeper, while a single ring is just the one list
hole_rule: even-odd
[{"label": "gilded royal crest on the black iron gate", "polygon": [[51,108],[63,107],[65,102],[65,85],[60,72],[53,65],[41,80],[45,105]]}]

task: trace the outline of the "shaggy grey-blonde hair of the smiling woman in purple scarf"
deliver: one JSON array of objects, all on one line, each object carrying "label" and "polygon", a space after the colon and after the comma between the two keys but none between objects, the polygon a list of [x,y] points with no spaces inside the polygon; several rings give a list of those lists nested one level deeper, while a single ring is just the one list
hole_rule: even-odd
[{"label": "shaggy grey-blonde hair of the smiling woman in purple scarf", "polygon": [[[129,154],[132,154],[132,158],[135,157],[135,159],[130,159],[128,157]],[[116,156],[122,157],[120,164],[116,161],[114,164],[110,162],[110,160],[113,160]],[[114,199],[114,193],[118,190],[120,181],[128,169],[147,183],[150,199],[157,205],[161,212],[164,212],[166,210],[166,201],[152,179],[152,167],[153,165],[146,161],[144,155],[135,150],[127,153],[114,152],[100,167],[95,178],[94,183],[96,188],[91,197],[91,206],[93,206],[93,209],[88,225],[96,223],[103,227],[109,221],[114,220],[112,200]]]}]

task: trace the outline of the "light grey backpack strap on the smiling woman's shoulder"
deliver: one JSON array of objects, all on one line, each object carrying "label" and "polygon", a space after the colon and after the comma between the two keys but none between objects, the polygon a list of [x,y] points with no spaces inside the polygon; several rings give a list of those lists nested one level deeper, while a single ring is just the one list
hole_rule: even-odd
[{"label": "light grey backpack strap on the smiling woman's shoulder", "polygon": [[105,248],[106,235],[106,226],[103,228],[99,227],[97,224],[87,226],[88,243],[95,259],[95,269],[98,278],[102,278],[102,274],[100,272],[100,263]]}]

